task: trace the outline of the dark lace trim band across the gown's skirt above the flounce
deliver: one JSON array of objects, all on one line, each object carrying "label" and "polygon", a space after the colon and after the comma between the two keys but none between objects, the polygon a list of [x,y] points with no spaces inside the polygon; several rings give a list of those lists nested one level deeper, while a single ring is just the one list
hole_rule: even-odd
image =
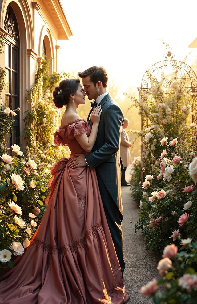
[{"label": "dark lace trim band across the gown's skirt above the flounce", "polygon": [[56,245],[50,245],[45,243],[45,241],[39,240],[36,237],[33,239],[30,245],[36,246],[36,251],[39,248],[42,248],[45,252],[49,251],[50,253],[58,253],[61,255],[64,252],[71,252],[76,250],[78,247],[82,247],[86,251],[86,241],[90,235],[93,235],[97,232],[98,229],[103,230],[101,226],[101,222],[96,223],[96,225],[90,227],[86,230],[85,236],[81,239],[78,239],[76,242],[72,244],[66,244],[63,247],[57,247]]}]

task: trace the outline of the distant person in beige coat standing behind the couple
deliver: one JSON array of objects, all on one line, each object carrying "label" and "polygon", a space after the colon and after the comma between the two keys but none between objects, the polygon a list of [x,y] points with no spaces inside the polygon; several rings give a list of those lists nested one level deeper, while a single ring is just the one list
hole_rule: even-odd
[{"label": "distant person in beige coat standing behind the couple", "polygon": [[121,186],[129,186],[125,180],[125,171],[127,169],[127,166],[131,164],[131,154],[129,151],[129,148],[132,146],[132,143],[129,141],[128,134],[126,132],[126,129],[129,125],[128,118],[124,119],[124,124],[121,132],[121,141],[120,141],[120,157],[123,162],[124,171],[122,171],[121,176]]}]

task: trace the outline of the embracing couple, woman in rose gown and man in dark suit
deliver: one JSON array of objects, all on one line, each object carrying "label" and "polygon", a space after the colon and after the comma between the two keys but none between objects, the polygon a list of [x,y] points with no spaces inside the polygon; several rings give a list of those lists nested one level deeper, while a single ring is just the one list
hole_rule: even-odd
[{"label": "embracing couple, woman in rose gown and man in dark suit", "polygon": [[[123,209],[119,155],[123,113],[107,92],[107,73],[91,67],[53,91],[66,105],[54,143],[70,158],[52,168],[46,212],[30,246],[0,277],[4,304],[123,304]],[[77,114],[85,95],[87,120]]]}]

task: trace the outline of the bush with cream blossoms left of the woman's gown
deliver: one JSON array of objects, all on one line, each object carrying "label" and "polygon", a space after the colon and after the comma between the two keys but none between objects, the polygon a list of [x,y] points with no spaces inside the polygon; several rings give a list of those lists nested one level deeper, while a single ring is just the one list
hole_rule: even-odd
[{"label": "bush with cream blossoms left of the woman's gown", "polygon": [[[43,163],[27,147],[12,146],[13,156],[0,156],[0,268],[13,266],[30,244],[46,206],[51,164]],[[19,158],[20,156],[20,158]]]}]

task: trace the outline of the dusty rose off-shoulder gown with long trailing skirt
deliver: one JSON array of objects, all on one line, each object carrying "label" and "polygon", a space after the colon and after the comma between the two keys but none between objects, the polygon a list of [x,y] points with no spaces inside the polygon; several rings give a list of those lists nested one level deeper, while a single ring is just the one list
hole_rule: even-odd
[{"label": "dusty rose off-shoulder gown with long trailing skirt", "polygon": [[121,269],[107,225],[95,170],[69,168],[74,153],[87,153],[75,135],[90,135],[77,119],[55,132],[70,158],[52,168],[46,212],[25,253],[0,278],[2,304],[122,304]]}]

